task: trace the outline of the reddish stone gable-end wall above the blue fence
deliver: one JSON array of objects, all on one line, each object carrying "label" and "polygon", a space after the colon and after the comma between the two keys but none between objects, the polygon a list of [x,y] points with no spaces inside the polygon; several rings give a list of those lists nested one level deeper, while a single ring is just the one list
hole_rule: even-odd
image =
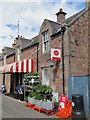
[{"label": "reddish stone gable-end wall above the blue fence", "polygon": [[88,74],[88,12],[69,28],[70,31],[70,75]]}]

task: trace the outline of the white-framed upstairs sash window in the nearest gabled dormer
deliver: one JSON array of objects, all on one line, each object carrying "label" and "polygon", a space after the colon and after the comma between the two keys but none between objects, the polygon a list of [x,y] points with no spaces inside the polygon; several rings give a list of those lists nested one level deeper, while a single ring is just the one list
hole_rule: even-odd
[{"label": "white-framed upstairs sash window in the nearest gabled dormer", "polygon": [[43,53],[48,52],[49,50],[49,32],[48,30],[42,33],[42,46]]}]

